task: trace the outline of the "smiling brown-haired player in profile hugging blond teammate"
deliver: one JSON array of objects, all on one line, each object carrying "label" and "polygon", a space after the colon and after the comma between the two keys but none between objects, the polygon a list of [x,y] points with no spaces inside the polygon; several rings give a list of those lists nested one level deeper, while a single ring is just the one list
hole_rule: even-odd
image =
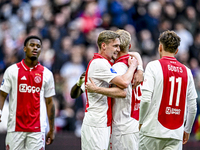
[{"label": "smiling brown-haired player in profile hugging blond teammate", "polygon": [[[116,59],[120,51],[120,36],[109,30],[102,31],[98,36],[99,53],[94,54],[89,62],[85,83],[92,78],[95,84],[106,90],[107,94],[113,94],[112,89],[108,88],[109,83],[117,85],[119,92],[113,95],[116,97],[125,97],[124,89],[127,88],[132,80],[133,73],[137,67],[137,61],[129,58],[129,69],[124,75],[118,75],[112,69],[110,60]],[[117,87],[116,87],[117,88]],[[120,92],[120,90],[122,92]],[[120,95],[120,93],[122,93]],[[87,103],[85,116],[81,129],[81,146],[83,150],[102,150],[107,149],[110,138],[110,126],[112,121],[111,99],[107,96],[97,93],[90,93],[86,90]]]}]

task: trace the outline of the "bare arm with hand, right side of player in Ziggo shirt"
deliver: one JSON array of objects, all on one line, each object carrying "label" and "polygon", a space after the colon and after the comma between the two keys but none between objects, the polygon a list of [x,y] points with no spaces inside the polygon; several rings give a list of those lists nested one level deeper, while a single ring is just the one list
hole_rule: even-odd
[{"label": "bare arm with hand, right side of player in Ziggo shirt", "polygon": [[53,142],[55,135],[54,135],[54,118],[55,118],[55,106],[53,103],[52,97],[45,98],[46,100],[46,107],[47,107],[47,115],[49,119],[49,132],[46,135],[46,144],[49,145]]}]

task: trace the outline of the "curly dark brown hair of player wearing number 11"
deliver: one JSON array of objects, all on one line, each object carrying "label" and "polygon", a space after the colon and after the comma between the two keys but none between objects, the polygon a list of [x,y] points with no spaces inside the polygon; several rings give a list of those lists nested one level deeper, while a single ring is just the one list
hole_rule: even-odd
[{"label": "curly dark brown hair of player wearing number 11", "polygon": [[164,31],[158,39],[163,45],[164,51],[175,53],[180,45],[181,38],[174,31]]}]

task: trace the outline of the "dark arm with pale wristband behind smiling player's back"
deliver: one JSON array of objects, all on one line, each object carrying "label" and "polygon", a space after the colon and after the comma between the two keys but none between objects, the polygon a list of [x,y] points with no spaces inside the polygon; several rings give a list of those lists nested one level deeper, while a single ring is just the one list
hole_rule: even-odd
[{"label": "dark arm with pale wristband behind smiling player's back", "polygon": [[71,88],[70,92],[71,98],[77,98],[83,93],[81,85],[84,82],[85,82],[85,72],[82,73],[77,83]]}]

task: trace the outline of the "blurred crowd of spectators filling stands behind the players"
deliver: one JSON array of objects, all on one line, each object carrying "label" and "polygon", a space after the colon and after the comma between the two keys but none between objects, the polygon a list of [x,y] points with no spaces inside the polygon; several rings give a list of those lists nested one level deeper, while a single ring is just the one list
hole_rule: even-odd
[{"label": "blurred crowd of spectators filling stands behind the players", "polygon": [[105,29],[130,32],[130,51],[141,54],[144,68],[159,58],[161,32],[174,30],[181,37],[176,58],[194,76],[199,98],[192,132],[200,140],[200,0],[0,0],[0,80],[24,58],[24,39],[40,36],[39,61],[55,78],[56,131],[80,137],[85,94],[72,99],[70,89],[98,52],[97,36]]}]

